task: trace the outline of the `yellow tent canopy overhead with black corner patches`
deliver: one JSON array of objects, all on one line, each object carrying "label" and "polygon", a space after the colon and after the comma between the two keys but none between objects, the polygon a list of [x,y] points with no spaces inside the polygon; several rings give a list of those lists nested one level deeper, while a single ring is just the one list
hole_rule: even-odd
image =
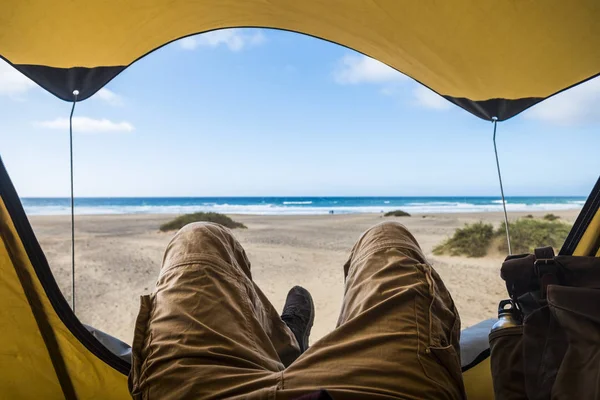
[{"label": "yellow tent canopy overhead with black corner patches", "polygon": [[347,46],[487,120],[600,73],[597,0],[5,0],[0,57],[84,100],[171,41],[232,27]]}]

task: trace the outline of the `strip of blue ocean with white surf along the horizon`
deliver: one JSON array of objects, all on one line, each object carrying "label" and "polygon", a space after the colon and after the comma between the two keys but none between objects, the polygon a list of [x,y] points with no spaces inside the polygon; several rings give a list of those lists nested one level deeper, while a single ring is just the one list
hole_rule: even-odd
[{"label": "strip of blue ocean with white surf along the horizon", "polygon": [[[69,198],[22,198],[28,215],[70,213]],[[508,197],[508,211],[578,209],[584,196]],[[214,211],[225,214],[316,215],[501,211],[498,197],[85,197],[75,199],[76,214],[180,214]]]}]

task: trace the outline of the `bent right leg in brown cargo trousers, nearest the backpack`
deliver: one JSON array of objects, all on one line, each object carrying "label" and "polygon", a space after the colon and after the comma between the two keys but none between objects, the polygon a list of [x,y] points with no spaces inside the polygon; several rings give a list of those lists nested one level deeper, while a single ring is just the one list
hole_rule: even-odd
[{"label": "bent right leg in brown cargo trousers, nearest the backpack", "polygon": [[277,398],[461,399],[460,319],[404,226],[363,234],[344,266],[338,327],[284,371]]}]

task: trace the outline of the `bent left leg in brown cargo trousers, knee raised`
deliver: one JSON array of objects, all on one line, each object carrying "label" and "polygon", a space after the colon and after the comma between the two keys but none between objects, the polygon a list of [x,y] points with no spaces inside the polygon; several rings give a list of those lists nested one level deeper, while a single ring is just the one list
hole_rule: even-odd
[{"label": "bent left leg in brown cargo trousers, knee raised", "polygon": [[299,354],[239,242],[219,225],[191,224],[142,298],[130,390],[136,399],[272,398]]}]

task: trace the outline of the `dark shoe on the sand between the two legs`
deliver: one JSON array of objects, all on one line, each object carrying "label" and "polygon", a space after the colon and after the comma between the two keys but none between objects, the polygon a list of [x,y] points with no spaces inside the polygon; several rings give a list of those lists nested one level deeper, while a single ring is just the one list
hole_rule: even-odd
[{"label": "dark shoe on the sand between the two legs", "polygon": [[304,353],[308,349],[308,337],[315,321],[315,305],[308,290],[301,286],[290,289],[281,319],[296,337],[300,353]]}]

